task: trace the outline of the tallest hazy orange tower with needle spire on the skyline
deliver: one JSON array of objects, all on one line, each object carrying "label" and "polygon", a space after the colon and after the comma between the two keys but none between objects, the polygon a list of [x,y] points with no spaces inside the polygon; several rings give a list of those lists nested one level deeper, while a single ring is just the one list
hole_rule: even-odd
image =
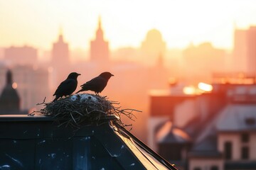
[{"label": "tallest hazy orange tower with needle spire on the skyline", "polygon": [[109,43],[104,40],[101,18],[99,17],[95,40],[90,42],[90,61],[107,62],[109,60],[109,54]]}]

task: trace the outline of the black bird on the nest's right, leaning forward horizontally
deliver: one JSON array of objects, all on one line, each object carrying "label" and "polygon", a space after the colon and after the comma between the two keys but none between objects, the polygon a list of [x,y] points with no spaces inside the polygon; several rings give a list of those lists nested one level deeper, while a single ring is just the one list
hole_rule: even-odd
[{"label": "black bird on the nest's right, leaning forward horizontally", "polygon": [[[95,77],[91,79],[90,81],[87,81],[85,84],[82,84],[82,89],[80,91],[94,91],[95,94],[99,95],[100,92],[102,92],[103,89],[105,89],[105,86],[107,86],[107,81],[110,79],[110,77],[114,76],[110,72],[102,72],[100,76]],[[77,94],[80,92],[76,92]]]}]

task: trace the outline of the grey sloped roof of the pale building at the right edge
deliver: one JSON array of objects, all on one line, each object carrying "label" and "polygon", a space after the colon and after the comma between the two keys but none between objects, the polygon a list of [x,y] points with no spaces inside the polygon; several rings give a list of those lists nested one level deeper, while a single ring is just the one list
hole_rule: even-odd
[{"label": "grey sloped roof of the pale building at the right edge", "polygon": [[241,132],[256,130],[256,106],[254,104],[232,103],[203,128],[194,142],[192,157],[220,157],[217,148],[218,132]]}]

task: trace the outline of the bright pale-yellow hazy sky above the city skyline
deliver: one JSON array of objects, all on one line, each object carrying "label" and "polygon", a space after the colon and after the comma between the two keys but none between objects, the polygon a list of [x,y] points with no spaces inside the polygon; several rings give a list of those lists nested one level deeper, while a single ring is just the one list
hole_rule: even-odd
[{"label": "bright pale-yellow hazy sky above the city skyline", "polygon": [[102,17],[110,48],[139,47],[148,30],[168,47],[213,42],[231,48],[234,23],[256,26],[255,0],[0,0],[0,47],[50,49],[60,26],[71,48],[87,49]]}]

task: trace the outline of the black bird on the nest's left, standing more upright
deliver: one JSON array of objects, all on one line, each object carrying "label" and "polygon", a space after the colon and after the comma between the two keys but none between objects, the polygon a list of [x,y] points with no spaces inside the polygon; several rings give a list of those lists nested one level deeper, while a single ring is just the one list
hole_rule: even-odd
[{"label": "black bird on the nest's left, standing more upright", "polygon": [[76,72],[72,72],[68,75],[68,78],[61,82],[61,84],[58,86],[57,90],[53,94],[53,96],[56,96],[53,101],[57,101],[58,98],[62,96],[68,96],[72,94],[75,89],[78,86],[78,76],[81,74],[78,74]]}]

